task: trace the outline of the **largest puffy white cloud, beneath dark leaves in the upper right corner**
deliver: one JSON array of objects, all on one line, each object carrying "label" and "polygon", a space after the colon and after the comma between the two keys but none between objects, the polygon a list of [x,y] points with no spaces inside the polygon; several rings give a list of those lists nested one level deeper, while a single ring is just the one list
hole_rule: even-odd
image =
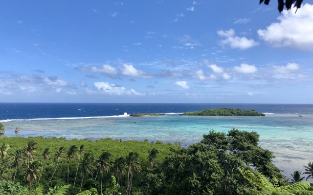
[{"label": "largest puffy white cloud, beneath dark leaves in the upper right corner", "polygon": [[257,31],[259,37],[274,47],[313,50],[313,5],[306,3],[295,10],[284,10],[279,22]]}]

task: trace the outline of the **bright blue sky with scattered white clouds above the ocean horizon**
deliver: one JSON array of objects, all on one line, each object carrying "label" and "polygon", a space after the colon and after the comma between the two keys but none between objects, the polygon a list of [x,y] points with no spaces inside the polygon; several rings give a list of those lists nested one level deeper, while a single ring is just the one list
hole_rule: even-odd
[{"label": "bright blue sky with scattered white clouds above the ocean horizon", "polygon": [[313,5],[0,2],[0,102],[313,103]]}]

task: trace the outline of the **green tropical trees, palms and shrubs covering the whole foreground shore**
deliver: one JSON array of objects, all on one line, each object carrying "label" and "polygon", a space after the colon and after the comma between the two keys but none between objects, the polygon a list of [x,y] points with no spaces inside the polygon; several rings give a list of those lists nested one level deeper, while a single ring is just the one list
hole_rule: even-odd
[{"label": "green tropical trees, palms and shrubs covering the whole foreground shore", "polygon": [[[1,195],[313,195],[300,171],[289,179],[256,132],[211,130],[175,144],[64,137],[0,138]],[[307,179],[313,166],[304,166]],[[77,183],[77,185],[75,185]]]}]

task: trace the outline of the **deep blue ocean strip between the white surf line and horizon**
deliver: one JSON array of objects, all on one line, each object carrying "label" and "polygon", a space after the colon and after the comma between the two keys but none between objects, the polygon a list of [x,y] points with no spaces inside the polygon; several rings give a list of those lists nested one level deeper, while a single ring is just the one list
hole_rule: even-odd
[{"label": "deep blue ocean strip between the white surf line and horizon", "polygon": [[313,115],[313,104],[182,103],[0,103],[0,120],[99,117],[127,113],[183,113],[211,108],[254,109],[261,113]]}]

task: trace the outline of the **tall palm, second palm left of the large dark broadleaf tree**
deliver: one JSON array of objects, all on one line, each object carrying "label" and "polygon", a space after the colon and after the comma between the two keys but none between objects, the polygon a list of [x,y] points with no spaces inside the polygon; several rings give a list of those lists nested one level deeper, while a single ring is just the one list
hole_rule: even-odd
[{"label": "tall palm, second palm left of the large dark broadleaf tree", "polygon": [[[126,166],[128,168],[126,193],[128,195],[131,194],[134,171],[139,173],[141,170],[141,165],[140,165],[138,157],[139,157],[139,154],[134,153],[134,152],[131,152],[126,156]],[[129,177],[130,174],[131,174],[131,178]]]}]

